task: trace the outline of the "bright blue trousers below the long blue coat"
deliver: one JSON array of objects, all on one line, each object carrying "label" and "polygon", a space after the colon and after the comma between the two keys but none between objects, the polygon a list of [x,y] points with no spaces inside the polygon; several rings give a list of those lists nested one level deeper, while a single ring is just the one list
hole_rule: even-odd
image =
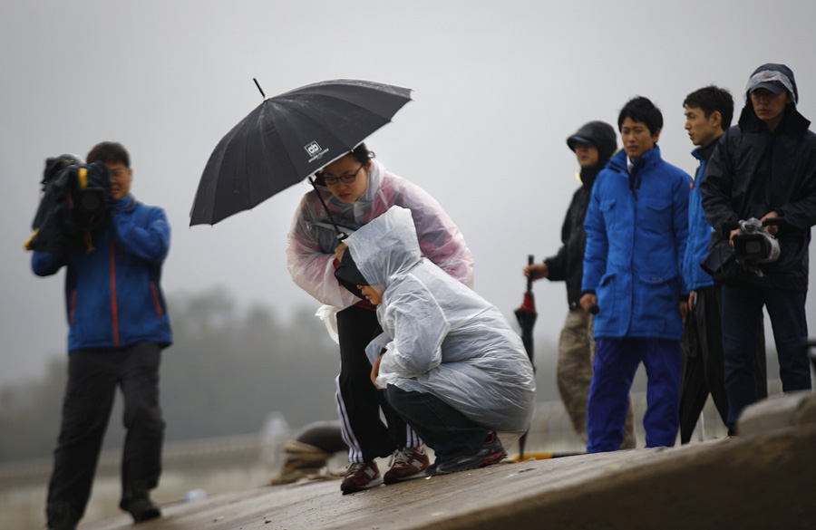
[{"label": "bright blue trousers below the long blue coat", "polygon": [[680,341],[650,337],[596,337],[594,374],[587,404],[587,451],[620,448],[637,366],[646,367],[646,447],[675,445],[680,416]]}]

